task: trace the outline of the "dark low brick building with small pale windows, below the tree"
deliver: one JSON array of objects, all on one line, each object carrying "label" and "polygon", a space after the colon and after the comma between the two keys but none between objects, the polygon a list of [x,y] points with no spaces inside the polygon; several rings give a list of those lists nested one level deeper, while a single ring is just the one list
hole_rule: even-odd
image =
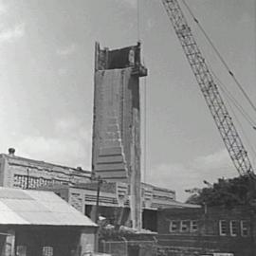
[{"label": "dark low brick building with small pale windows, below the tree", "polygon": [[252,256],[255,225],[255,212],[245,207],[160,210],[157,239],[165,255]]}]

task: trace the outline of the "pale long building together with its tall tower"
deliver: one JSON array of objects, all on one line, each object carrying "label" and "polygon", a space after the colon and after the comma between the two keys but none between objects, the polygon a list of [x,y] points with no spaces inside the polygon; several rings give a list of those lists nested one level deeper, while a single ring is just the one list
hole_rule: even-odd
[{"label": "pale long building together with its tall tower", "polygon": [[1,185],[54,191],[95,221],[101,214],[137,230],[156,231],[158,209],[195,207],[177,202],[173,190],[141,182],[139,77],[146,75],[139,43],[114,50],[96,43],[92,172],[10,148],[0,155]]}]

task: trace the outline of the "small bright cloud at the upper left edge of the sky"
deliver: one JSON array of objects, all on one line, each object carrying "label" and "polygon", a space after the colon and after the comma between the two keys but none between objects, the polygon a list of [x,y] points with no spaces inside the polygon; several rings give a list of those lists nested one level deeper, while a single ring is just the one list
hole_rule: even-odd
[{"label": "small bright cloud at the upper left edge of the sky", "polygon": [[4,28],[0,30],[0,42],[12,42],[15,39],[25,35],[25,24],[17,24],[12,28]]}]

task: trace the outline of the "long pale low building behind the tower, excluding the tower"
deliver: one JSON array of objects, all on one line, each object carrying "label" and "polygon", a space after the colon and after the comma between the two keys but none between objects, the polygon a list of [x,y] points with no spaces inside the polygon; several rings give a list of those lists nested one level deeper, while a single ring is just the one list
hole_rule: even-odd
[{"label": "long pale low building behind the tower, excluding the tower", "polygon": [[[99,200],[98,181],[91,172],[45,161],[29,159],[13,152],[0,155],[0,185],[8,188],[53,191],[83,214],[96,220],[99,214],[112,224],[131,227],[131,186],[128,182],[104,181]],[[164,208],[194,207],[175,200],[175,192],[141,183],[141,227],[156,231],[157,211]]]}]

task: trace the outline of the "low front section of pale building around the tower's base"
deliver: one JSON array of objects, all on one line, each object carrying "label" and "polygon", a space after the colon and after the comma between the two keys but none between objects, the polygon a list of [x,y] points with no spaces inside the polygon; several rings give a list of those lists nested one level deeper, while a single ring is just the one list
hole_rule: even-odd
[{"label": "low front section of pale building around the tower's base", "polygon": [[[98,182],[77,184],[74,186],[46,187],[61,196],[83,214],[93,220],[98,213],[106,218],[111,225],[132,227],[131,223],[131,196],[128,183],[104,182],[101,183],[99,198]],[[175,201],[175,193],[171,190],[157,188],[149,184],[141,184],[142,228],[157,231],[158,210],[163,208],[197,207]]]}]

